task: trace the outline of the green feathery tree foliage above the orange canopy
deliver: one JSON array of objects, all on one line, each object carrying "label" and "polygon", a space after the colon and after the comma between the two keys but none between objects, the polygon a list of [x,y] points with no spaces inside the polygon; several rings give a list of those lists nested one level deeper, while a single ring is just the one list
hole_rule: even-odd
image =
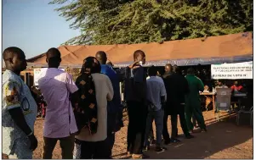
[{"label": "green feathery tree foliage above the orange canopy", "polygon": [[81,36],[65,44],[122,44],[253,30],[253,0],[53,0]]}]

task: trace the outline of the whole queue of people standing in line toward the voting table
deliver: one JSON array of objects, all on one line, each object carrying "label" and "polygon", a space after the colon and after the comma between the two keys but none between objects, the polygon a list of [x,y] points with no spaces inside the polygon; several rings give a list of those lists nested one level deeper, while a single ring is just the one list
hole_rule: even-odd
[{"label": "whole queue of people standing in line toward the voting table", "polygon": [[[43,125],[43,159],[52,158],[60,141],[62,158],[111,158],[115,135],[123,127],[120,80],[124,80],[124,100],[128,105],[127,152],[132,158],[145,158],[152,122],[156,124],[156,152],[165,145],[179,142],[177,116],[185,138],[194,138],[191,117],[200,131],[207,131],[202,116],[199,91],[202,80],[194,69],[182,75],[178,66],[167,64],[159,76],[156,67],[145,71],[145,52],[134,52],[134,63],[117,72],[107,64],[107,55],[99,51],[95,57],[83,60],[76,81],[58,69],[60,51],[46,52],[48,69],[38,80],[38,87],[47,103]],[[37,148],[34,124],[37,103],[20,78],[26,69],[26,56],[18,47],[3,52],[6,70],[3,73],[3,153],[9,158],[32,158]],[[149,77],[147,78],[147,74]],[[122,78],[120,78],[122,77]],[[168,135],[168,116],[171,115],[172,134]]]}]

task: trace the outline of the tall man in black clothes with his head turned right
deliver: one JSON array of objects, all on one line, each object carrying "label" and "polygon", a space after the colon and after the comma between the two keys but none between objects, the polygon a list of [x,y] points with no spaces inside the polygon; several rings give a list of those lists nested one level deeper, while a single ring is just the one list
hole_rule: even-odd
[{"label": "tall man in black clothes with his head turned right", "polygon": [[133,158],[145,157],[142,149],[145,139],[146,108],[146,73],[145,52],[134,52],[134,63],[125,70],[124,99],[128,104],[128,154]]}]

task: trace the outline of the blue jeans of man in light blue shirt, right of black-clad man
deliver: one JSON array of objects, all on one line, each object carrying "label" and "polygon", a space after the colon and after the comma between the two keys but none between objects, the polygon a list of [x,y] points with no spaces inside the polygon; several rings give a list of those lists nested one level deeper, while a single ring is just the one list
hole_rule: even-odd
[{"label": "blue jeans of man in light blue shirt, right of black-clad man", "polygon": [[158,111],[149,111],[145,125],[145,146],[150,146],[149,136],[151,134],[151,126],[155,119],[156,124],[156,146],[161,146],[162,142],[162,128],[163,128],[163,114],[162,109]]}]

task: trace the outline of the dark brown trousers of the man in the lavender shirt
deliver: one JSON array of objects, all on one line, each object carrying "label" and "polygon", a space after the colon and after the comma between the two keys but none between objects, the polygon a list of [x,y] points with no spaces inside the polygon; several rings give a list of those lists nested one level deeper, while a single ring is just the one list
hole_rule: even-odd
[{"label": "dark brown trousers of the man in the lavender shirt", "polygon": [[54,147],[57,141],[60,140],[61,156],[62,159],[73,159],[73,150],[75,136],[71,135],[65,138],[48,138],[43,137],[43,159],[52,159]]}]

